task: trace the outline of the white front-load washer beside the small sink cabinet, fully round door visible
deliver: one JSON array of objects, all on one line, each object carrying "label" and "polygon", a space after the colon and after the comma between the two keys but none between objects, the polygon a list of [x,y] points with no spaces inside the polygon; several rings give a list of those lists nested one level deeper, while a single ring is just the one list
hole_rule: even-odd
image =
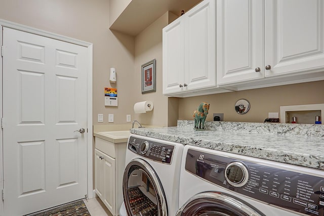
[{"label": "white front-load washer beside the small sink cabinet, fully round door visible", "polygon": [[183,147],[179,143],[130,136],[120,215],[176,215]]}]

